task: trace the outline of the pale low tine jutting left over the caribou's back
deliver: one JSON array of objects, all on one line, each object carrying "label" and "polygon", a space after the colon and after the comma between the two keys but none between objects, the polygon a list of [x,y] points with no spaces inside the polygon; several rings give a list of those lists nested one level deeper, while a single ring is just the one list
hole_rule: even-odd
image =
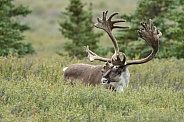
[{"label": "pale low tine jutting left over the caribou's back", "polygon": [[103,61],[103,62],[111,62],[110,59],[108,58],[103,58],[103,57],[100,57],[98,56],[97,54],[95,54],[94,52],[92,52],[90,49],[89,49],[89,46],[85,46],[85,51],[88,53],[88,58],[91,62],[93,62],[94,60],[99,60],[99,61]]}]

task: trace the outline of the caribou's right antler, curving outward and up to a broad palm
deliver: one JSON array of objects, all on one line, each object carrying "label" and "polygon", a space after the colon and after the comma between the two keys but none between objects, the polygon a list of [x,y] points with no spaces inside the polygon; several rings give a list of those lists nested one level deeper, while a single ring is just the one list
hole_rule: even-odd
[{"label": "caribou's right antler, curving outward and up to a broad palm", "polygon": [[144,39],[152,47],[151,54],[146,58],[143,58],[140,60],[127,61],[126,65],[146,63],[152,60],[155,57],[156,53],[158,52],[159,39],[162,36],[162,33],[159,30],[157,30],[157,28],[153,25],[153,22],[151,19],[149,20],[149,22],[150,22],[150,27],[148,27],[146,23],[141,23],[143,29],[140,29],[138,33],[140,37]]}]

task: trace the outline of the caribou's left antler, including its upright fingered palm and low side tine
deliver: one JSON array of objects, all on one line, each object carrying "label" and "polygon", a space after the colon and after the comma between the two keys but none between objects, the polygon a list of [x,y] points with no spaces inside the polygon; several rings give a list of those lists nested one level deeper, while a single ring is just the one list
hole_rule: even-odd
[{"label": "caribou's left antler, including its upright fingered palm and low side tine", "polygon": [[[117,26],[114,25],[116,23],[119,22],[125,22],[125,20],[112,20],[112,18],[117,15],[118,13],[113,13],[112,15],[109,16],[109,18],[107,19],[107,13],[103,12],[103,18],[97,18],[97,23],[95,24],[95,27],[103,29],[104,31],[107,32],[107,34],[109,35],[109,37],[111,38],[113,45],[114,45],[114,55],[111,57],[111,59],[107,59],[108,62],[111,62],[113,65],[124,65],[125,63],[125,55],[122,54],[121,52],[119,52],[119,48],[118,48],[118,44],[116,39],[114,38],[114,36],[112,35],[112,30],[114,28],[129,28],[129,27],[124,27],[124,26]],[[105,61],[104,58],[99,57],[98,55],[96,55],[95,53],[93,53],[92,51],[89,50],[89,48],[87,49],[88,52],[88,58],[93,59],[93,60],[101,60],[101,61]],[[123,61],[121,61],[120,56],[123,56]]]}]

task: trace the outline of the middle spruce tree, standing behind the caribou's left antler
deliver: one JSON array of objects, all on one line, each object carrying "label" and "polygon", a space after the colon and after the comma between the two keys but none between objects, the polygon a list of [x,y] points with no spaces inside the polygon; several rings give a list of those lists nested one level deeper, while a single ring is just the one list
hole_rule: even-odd
[{"label": "middle spruce tree, standing behind the caribou's left antler", "polygon": [[[66,12],[62,12],[60,31],[72,42],[66,42],[64,49],[69,56],[76,56],[78,58],[86,57],[84,46],[89,46],[93,51],[103,52],[98,47],[99,37],[102,33],[94,32],[92,3],[89,8],[84,9],[85,4],[80,0],[70,0],[70,4],[66,8]],[[103,53],[105,55],[105,53]]]}]

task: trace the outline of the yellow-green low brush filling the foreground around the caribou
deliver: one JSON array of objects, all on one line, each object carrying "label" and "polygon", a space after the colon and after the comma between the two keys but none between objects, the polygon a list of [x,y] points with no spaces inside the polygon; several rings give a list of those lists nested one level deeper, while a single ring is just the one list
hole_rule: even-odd
[{"label": "yellow-green low brush filling the foreground around the caribou", "polygon": [[0,121],[184,121],[184,60],[130,66],[124,93],[63,81],[62,68],[86,60],[0,58]]}]

